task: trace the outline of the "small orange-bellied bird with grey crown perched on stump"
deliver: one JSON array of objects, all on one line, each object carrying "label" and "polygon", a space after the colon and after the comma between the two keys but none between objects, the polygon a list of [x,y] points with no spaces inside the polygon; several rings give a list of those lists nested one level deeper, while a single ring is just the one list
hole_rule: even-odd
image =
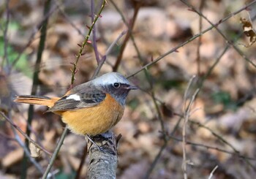
[{"label": "small orange-bellied bird with grey crown perched on stump", "polygon": [[62,97],[20,95],[14,102],[48,106],[61,115],[71,132],[96,136],[121,120],[130,90],[138,89],[118,72],[108,72],[75,86]]}]

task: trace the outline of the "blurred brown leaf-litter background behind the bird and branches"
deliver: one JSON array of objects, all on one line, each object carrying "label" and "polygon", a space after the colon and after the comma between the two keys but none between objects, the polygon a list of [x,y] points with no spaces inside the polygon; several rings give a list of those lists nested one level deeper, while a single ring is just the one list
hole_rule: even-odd
[{"label": "blurred brown leaf-litter background behind the bird and branches", "polygon": [[[117,178],[184,178],[185,163],[188,178],[208,178],[211,173],[212,178],[254,178],[256,3],[244,8],[252,2],[107,1],[94,38],[91,35],[78,61],[75,85],[91,79],[96,56],[102,58],[114,45],[99,74],[116,69],[132,75],[129,80],[140,88],[130,92],[124,117],[113,129],[122,135]],[[61,96],[67,91],[78,44],[91,26],[91,10],[96,15],[101,4],[51,1],[50,12],[44,15],[45,1],[0,2],[0,110],[23,132],[29,105],[14,104],[12,98],[31,94],[35,72],[37,94]],[[36,66],[46,18],[45,49]],[[218,29],[207,20],[218,23]],[[127,34],[115,43],[124,31]],[[64,123],[46,110],[34,107],[29,129],[31,138],[52,153]],[[25,138],[3,116],[0,119],[0,178],[19,178]],[[53,165],[56,178],[75,177],[85,147],[84,137],[67,135]],[[27,178],[40,178],[35,164],[45,170],[48,162],[42,151],[34,163],[29,161]],[[80,178],[86,178],[87,166],[86,157]]]}]

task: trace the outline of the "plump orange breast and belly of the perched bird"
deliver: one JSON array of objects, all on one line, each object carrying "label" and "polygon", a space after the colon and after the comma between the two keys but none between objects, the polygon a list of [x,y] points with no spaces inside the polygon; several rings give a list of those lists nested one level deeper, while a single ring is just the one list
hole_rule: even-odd
[{"label": "plump orange breast and belly of the perched bird", "polygon": [[67,123],[72,132],[91,136],[107,132],[120,121],[123,114],[124,107],[116,102],[110,94],[107,94],[104,102],[95,107],[61,113],[62,121]]}]

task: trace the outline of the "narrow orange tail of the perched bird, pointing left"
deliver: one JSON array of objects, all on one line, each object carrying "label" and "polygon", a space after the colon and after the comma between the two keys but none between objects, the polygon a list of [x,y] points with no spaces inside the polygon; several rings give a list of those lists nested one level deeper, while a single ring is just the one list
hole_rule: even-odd
[{"label": "narrow orange tail of the perched bird, pointing left", "polygon": [[58,99],[59,98],[49,98],[46,96],[21,95],[14,98],[14,102],[53,107],[54,103],[58,101]]}]

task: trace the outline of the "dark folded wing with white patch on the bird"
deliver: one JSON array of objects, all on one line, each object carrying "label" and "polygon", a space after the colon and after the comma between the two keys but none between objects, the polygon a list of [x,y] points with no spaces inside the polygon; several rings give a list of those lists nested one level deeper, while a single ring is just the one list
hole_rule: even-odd
[{"label": "dark folded wing with white patch on the bird", "polygon": [[105,92],[91,88],[91,85],[84,83],[73,88],[68,95],[59,99],[48,111],[77,110],[84,107],[93,107],[103,102],[105,97]]}]

